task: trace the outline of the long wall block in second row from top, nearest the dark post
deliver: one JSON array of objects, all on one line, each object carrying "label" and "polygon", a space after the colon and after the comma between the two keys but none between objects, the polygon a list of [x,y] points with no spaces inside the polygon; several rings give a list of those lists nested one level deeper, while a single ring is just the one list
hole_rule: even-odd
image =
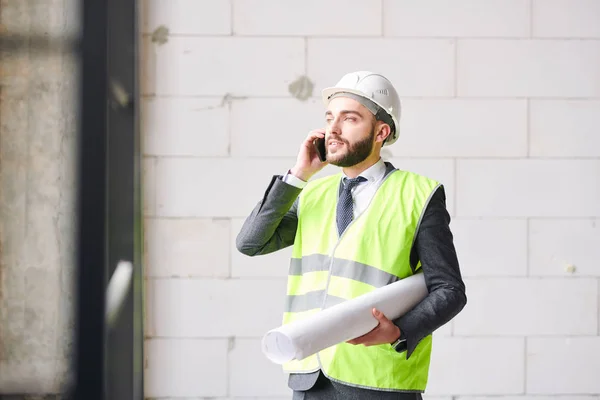
[{"label": "long wall block in second row from top, nearest the dark post", "polygon": [[171,37],[146,46],[146,82],[157,95],[288,96],[305,70],[301,38]]}]

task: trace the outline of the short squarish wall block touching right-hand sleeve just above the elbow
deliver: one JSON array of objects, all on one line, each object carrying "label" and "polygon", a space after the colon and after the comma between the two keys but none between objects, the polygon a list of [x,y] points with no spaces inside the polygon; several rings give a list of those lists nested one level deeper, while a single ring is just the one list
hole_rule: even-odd
[{"label": "short squarish wall block touching right-hand sleeve just above the elbow", "polygon": [[526,220],[457,218],[450,229],[463,276],[527,274]]}]

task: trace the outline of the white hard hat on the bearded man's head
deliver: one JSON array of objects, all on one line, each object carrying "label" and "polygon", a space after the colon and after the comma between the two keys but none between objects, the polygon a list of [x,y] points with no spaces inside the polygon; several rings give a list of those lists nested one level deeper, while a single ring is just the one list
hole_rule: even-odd
[{"label": "white hard hat on the bearded man's head", "polygon": [[[392,132],[383,144],[384,146],[389,146],[398,139],[400,97],[392,82],[386,77],[369,71],[350,72],[344,75],[334,87],[323,90],[323,102],[327,106],[334,95],[341,93],[351,93],[372,101],[380,108],[380,110],[376,110],[378,119],[389,125],[392,125],[390,122],[393,121]],[[389,117],[392,121],[389,121]]]}]

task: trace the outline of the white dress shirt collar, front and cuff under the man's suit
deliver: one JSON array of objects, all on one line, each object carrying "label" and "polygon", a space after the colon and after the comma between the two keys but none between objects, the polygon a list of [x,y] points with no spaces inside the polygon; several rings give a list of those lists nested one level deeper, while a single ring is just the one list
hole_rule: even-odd
[{"label": "white dress shirt collar, front and cuff under the man's suit", "polygon": [[[367,180],[365,182],[360,182],[352,189],[352,210],[354,218],[367,209],[367,206],[383,181],[385,169],[385,163],[380,158],[379,161],[359,175]],[[343,178],[347,178],[347,176],[342,172],[342,179]],[[303,189],[307,183],[289,172],[283,176],[283,181],[300,189]]]}]

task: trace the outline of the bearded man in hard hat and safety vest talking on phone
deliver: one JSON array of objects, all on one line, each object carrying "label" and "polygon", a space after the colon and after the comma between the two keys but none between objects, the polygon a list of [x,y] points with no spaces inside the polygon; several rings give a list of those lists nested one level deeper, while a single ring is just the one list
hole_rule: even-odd
[{"label": "bearded man in hard hat and safety vest talking on phone", "polygon": [[[294,399],[420,399],[431,334],[466,304],[444,187],[381,159],[382,146],[398,139],[400,116],[385,77],[349,73],[323,100],[325,128],[310,132],[296,165],[272,178],[237,248],[256,256],[294,246],[284,323],[423,273],[429,294],[408,313],[390,321],[374,309],[371,332],[284,365]],[[327,164],[342,172],[309,182]]]}]

